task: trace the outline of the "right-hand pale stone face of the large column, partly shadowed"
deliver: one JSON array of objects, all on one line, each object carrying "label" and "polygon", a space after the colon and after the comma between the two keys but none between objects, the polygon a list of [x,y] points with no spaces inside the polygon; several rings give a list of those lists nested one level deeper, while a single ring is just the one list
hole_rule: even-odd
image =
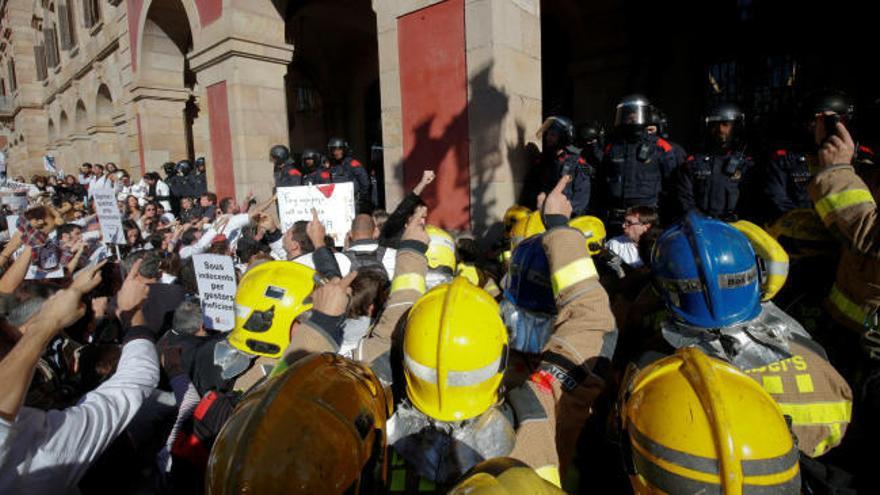
[{"label": "right-hand pale stone face of the large column, partly shadowed", "polygon": [[471,220],[484,232],[516,203],[541,125],[540,0],[470,0],[465,30]]}]

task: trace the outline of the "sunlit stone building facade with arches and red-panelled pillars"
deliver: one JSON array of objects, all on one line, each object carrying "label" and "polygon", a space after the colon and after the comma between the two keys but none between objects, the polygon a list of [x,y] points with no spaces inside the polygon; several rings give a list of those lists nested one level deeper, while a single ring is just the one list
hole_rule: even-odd
[{"label": "sunlit stone building facade with arches and red-panelled pillars", "polygon": [[[539,0],[0,0],[9,174],[205,156],[220,196],[271,190],[268,149],[346,137],[395,204],[437,169],[432,220],[514,202],[541,120]],[[381,149],[382,154],[377,151]],[[443,201],[440,201],[443,198]]]}]

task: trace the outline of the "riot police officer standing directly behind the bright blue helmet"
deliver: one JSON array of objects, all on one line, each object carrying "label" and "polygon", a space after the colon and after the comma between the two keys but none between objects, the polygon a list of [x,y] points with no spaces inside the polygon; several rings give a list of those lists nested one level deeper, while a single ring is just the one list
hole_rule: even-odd
[{"label": "riot police officer standing directly behind the bright blue helmet", "polygon": [[707,112],[706,145],[688,157],[676,174],[675,200],[680,213],[690,210],[735,220],[740,197],[754,162],[746,156],[741,139],[745,116],[732,103],[721,103]]}]

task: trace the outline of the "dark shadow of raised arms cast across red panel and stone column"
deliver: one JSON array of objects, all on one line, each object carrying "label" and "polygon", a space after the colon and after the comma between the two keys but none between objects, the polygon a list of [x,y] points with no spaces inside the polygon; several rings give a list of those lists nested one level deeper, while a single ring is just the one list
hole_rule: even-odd
[{"label": "dark shadow of raised arms cast across red panel and stone column", "polygon": [[[445,125],[431,115],[416,126],[412,148],[403,158],[405,166],[394,167],[395,179],[407,191],[418,183],[424,170],[435,170],[437,180],[425,190],[422,199],[431,210],[440,213],[441,219],[466,219],[468,215],[471,218],[470,225],[453,221],[442,227],[470,228],[475,234],[488,237],[500,235],[502,229],[501,222],[493,221],[492,212],[500,216],[510,206],[499,204],[502,200],[493,194],[493,183],[510,177],[517,182],[522,180],[530,156],[525,143],[527,124],[519,121],[516,142],[507,143],[506,150],[500,147],[510,96],[492,84],[492,68],[490,62],[470,78],[467,105]],[[510,173],[501,174],[506,166],[511,168]],[[460,200],[464,197],[461,191],[470,191],[467,201]],[[512,192],[512,197],[519,197],[519,191]]]}]

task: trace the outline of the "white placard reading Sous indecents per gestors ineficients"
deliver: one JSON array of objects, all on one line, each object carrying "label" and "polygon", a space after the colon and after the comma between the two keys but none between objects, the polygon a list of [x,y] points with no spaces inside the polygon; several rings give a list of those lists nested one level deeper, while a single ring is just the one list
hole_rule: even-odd
[{"label": "white placard reading Sous indecents per gestors ineficients", "polygon": [[235,328],[235,268],[232,257],[222,254],[193,256],[196,282],[205,328],[229,331]]}]

